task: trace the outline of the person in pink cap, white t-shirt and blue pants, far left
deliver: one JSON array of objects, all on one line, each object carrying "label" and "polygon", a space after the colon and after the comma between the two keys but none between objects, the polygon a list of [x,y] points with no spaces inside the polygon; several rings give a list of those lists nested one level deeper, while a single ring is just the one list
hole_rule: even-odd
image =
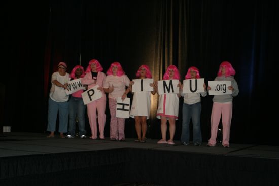
[{"label": "person in pink cap, white t-shirt and blue pants, far left", "polygon": [[68,131],[69,117],[69,96],[66,94],[67,82],[70,80],[69,74],[66,72],[67,65],[64,62],[59,62],[58,71],[51,76],[51,89],[48,100],[48,128],[50,135],[54,137],[56,129],[57,113],[59,113],[59,129],[60,137],[65,138],[64,133]]}]

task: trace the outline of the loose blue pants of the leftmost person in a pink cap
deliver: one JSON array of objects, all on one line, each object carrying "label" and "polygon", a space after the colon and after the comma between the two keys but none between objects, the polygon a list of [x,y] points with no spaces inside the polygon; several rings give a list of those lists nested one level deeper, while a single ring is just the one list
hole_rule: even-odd
[{"label": "loose blue pants of the leftmost person in a pink cap", "polygon": [[59,132],[67,132],[69,120],[69,103],[56,102],[51,98],[48,99],[48,128],[47,131],[55,132],[57,113],[59,112]]}]

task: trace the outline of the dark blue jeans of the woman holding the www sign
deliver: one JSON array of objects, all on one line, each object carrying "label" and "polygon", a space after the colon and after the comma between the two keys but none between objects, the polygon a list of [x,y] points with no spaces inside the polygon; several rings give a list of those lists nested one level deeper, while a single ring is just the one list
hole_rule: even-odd
[{"label": "dark blue jeans of the woman holding the www sign", "polygon": [[76,116],[78,116],[79,135],[86,135],[85,130],[85,108],[81,97],[71,96],[69,99],[69,130],[68,134],[74,136],[76,134]]}]

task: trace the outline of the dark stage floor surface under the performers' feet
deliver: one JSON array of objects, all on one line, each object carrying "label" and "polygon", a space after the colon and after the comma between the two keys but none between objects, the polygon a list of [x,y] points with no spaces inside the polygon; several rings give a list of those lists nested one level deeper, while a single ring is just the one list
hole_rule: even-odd
[{"label": "dark stage floor surface under the performers' feet", "polygon": [[120,148],[137,148],[143,150],[179,151],[198,154],[215,154],[223,156],[256,157],[279,159],[279,146],[230,144],[224,148],[220,143],[215,147],[208,147],[206,143],[201,146],[182,145],[175,141],[175,145],[157,144],[158,139],[147,139],[145,143],[134,142],[135,139],[126,141],[92,140],[89,138],[47,138],[43,133],[11,132],[0,137],[0,157],[39,155],[53,153],[71,153],[99,150],[113,150]]}]

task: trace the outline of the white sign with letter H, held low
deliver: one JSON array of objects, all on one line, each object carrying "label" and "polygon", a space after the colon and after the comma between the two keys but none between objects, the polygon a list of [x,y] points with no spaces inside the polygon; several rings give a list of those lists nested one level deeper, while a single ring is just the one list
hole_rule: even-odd
[{"label": "white sign with letter H, held low", "polygon": [[126,97],[124,100],[122,100],[121,97],[117,97],[116,117],[117,118],[130,117],[130,98]]}]

